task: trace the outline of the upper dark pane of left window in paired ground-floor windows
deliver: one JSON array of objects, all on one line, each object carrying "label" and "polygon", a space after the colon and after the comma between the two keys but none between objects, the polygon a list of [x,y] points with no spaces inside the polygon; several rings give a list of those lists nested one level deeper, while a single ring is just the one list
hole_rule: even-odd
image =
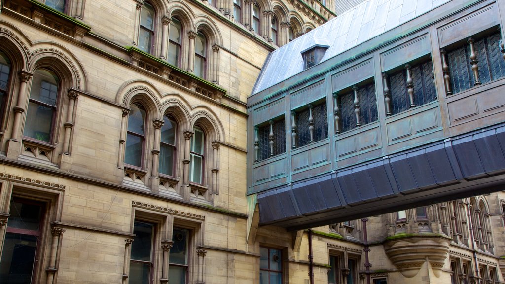
[{"label": "upper dark pane of left window in paired ground-floor windows", "polygon": [[153,229],[150,223],[135,221],[133,225],[134,241],[131,244],[131,259],[151,261],[151,249],[153,248]]}]

